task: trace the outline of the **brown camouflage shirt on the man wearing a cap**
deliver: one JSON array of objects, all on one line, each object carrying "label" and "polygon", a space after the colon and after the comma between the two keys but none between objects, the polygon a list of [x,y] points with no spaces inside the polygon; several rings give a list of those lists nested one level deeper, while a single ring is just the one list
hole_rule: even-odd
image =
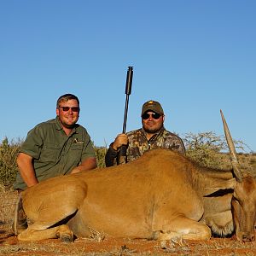
[{"label": "brown camouflage shirt on the man wearing a cap", "polygon": [[[130,131],[128,136],[128,148],[126,150],[127,161],[133,161],[142,156],[146,151],[153,148],[168,148],[185,154],[185,147],[180,137],[170,131],[166,131],[163,127],[158,133],[154,134],[149,140],[143,128],[136,131]],[[112,148],[112,144],[108,148],[105,157],[106,166],[116,164],[116,158],[119,151]]]}]

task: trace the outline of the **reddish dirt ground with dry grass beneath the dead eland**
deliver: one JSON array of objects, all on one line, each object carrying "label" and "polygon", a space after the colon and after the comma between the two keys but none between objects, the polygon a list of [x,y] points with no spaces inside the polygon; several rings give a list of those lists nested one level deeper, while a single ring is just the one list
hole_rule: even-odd
[{"label": "reddish dirt ground with dry grass beneath the dead eland", "polygon": [[92,236],[73,243],[57,239],[20,242],[11,228],[17,195],[13,191],[0,192],[0,255],[256,255],[256,242],[241,243],[235,237],[160,242]]}]

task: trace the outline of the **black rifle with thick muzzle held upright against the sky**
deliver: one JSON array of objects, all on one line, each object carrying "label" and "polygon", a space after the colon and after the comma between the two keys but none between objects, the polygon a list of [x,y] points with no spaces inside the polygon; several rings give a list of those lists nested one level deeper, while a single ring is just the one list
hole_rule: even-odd
[{"label": "black rifle with thick muzzle held upright against the sky", "polygon": [[[126,131],[126,120],[127,120],[127,113],[128,113],[128,104],[129,104],[129,96],[131,94],[131,84],[132,84],[132,76],[133,76],[133,67],[128,67],[127,76],[126,76],[126,87],[125,87],[125,115],[124,115],[124,123],[123,123],[123,133]],[[117,164],[127,162],[126,158],[126,146],[123,145],[119,149],[119,155],[117,158]]]}]

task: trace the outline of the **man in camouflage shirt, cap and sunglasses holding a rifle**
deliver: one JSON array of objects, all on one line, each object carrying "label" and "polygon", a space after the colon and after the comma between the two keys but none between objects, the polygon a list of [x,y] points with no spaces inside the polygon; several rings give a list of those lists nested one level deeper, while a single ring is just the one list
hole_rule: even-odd
[{"label": "man in camouflage shirt, cap and sunglasses holding a rifle", "polygon": [[106,166],[113,166],[118,160],[122,145],[126,147],[126,162],[136,160],[146,151],[153,148],[168,148],[185,154],[185,147],[180,137],[164,127],[165,114],[159,102],[148,101],[143,104],[143,128],[119,134],[110,144],[105,157]]}]

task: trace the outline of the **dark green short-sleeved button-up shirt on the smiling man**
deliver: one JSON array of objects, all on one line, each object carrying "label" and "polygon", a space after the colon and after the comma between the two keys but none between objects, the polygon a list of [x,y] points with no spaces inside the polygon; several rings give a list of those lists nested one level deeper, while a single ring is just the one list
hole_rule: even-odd
[{"label": "dark green short-sleeved button-up shirt on the smiling man", "polygon": [[[33,158],[38,181],[70,173],[86,158],[95,157],[90,136],[81,125],[75,125],[69,136],[58,117],[35,126],[28,132],[20,152]],[[18,172],[15,189],[26,189]]]}]

